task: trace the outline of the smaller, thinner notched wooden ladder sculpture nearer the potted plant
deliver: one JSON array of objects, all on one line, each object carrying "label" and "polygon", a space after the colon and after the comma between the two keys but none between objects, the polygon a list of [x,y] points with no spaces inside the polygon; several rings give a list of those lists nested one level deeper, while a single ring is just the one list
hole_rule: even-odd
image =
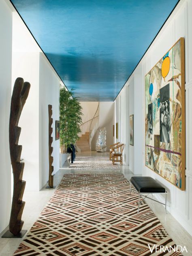
[{"label": "smaller, thinner notched wooden ladder sculpture nearer the potted plant", "polygon": [[55,188],[55,186],[53,186],[53,156],[51,156],[52,152],[53,152],[53,147],[51,147],[51,144],[53,142],[53,137],[51,136],[51,134],[53,133],[53,128],[51,127],[53,124],[53,118],[52,118],[52,105],[48,105],[48,111],[49,111],[49,181],[48,184],[49,186],[47,186],[46,188]]}]

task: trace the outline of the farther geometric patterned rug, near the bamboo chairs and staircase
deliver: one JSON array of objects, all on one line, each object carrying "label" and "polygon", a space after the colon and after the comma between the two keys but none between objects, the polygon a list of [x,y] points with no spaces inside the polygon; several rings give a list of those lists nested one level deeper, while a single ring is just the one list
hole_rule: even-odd
[{"label": "farther geometric patterned rug, near the bamboo chairs and staircase", "polygon": [[78,156],[73,164],[70,164],[70,169],[78,170],[121,170],[120,163],[112,164],[109,156]]}]

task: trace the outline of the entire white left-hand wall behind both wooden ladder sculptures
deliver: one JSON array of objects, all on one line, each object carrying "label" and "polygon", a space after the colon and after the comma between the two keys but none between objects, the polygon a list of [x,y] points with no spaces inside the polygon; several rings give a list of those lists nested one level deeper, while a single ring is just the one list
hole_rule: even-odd
[{"label": "entire white left-hand wall behind both wooden ladder sculptures", "polygon": [[[9,224],[11,211],[11,160],[9,153],[9,115],[15,79],[31,83],[29,96],[21,113],[19,144],[25,167],[26,190],[40,190],[48,177],[47,104],[53,105],[53,120],[59,119],[60,79],[43,57],[30,32],[9,0],[0,1],[0,233]],[[47,114],[45,114],[47,113]],[[47,115],[47,117],[46,117]],[[40,118],[41,117],[41,118]],[[46,126],[47,119],[47,127]],[[55,126],[53,124],[53,135]],[[41,136],[41,138],[40,138]],[[54,137],[54,136],[53,136]],[[54,172],[59,169],[59,141],[53,140]],[[39,149],[42,149],[41,154]],[[46,160],[45,160],[46,159]],[[46,172],[47,169],[47,173]]]}]

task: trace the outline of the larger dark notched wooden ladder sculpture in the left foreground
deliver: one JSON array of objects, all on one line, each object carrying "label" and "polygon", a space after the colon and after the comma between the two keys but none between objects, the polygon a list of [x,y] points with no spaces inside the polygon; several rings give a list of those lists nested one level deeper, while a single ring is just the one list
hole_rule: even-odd
[{"label": "larger dark notched wooden ladder sculpture in the left foreground", "polygon": [[25,105],[30,90],[30,83],[18,77],[15,80],[13,94],[11,98],[11,113],[9,119],[9,147],[11,155],[11,165],[13,168],[13,200],[11,207],[11,217],[9,230],[2,237],[22,237],[27,230],[21,230],[23,221],[21,215],[25,202],[22,201],[26,181],[22,180],[24,162],[20,161],[22,146],[18,145],[21,127],[18,127],[19,118],[23,106]]}]

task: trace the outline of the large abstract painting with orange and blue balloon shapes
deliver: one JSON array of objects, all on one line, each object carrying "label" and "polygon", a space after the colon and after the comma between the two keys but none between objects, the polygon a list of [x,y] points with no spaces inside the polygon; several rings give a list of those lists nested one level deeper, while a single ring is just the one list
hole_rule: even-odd
[{"label": "large abstract painting with orange and blue balloon shapes", "polygon": [[145,76],[145,165],[185,190],[184,38]]}]

